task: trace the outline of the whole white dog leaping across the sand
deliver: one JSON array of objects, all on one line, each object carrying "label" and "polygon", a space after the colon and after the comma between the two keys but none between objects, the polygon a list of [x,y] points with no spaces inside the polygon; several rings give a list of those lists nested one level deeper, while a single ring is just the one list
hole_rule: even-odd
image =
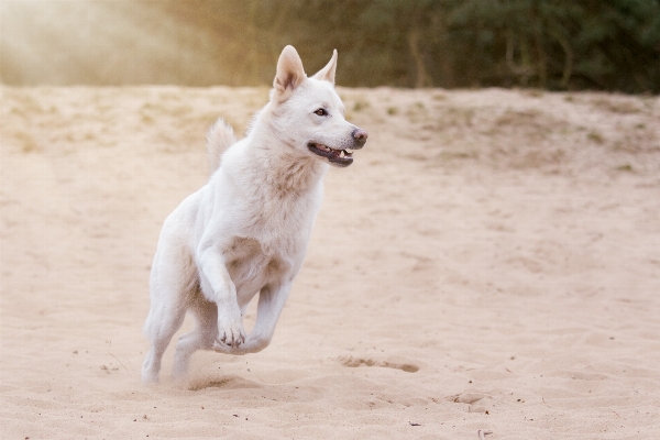
[{"label": "whole white dog leaping across the sand", "polygon": [[[154,256],[145,382],[158,380],[187,310],[198,326],[176,344],[175,377],[186,374],[196,350],[244,354],[271,342],[307,251],[328,165],[351,165],[352,150],[367,138],[344,119],[336,68],[337,51],[308,78],[296,50],[286,46],[270,101],[246,136],[235,142],[222,120],[209,131],[215,172],[165,220]],[[257,293],[256,323],[245,336],[243,315]]]}]

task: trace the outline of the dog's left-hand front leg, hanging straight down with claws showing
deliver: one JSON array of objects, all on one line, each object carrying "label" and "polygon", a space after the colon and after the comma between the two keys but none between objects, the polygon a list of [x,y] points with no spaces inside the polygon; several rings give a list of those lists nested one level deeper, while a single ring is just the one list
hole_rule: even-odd
[{"label": "dog's left-hand front leg, hanging straight down with claws showing", "polygon": [[245,329],[237,287],[229,276],[219,248],[207,243],[198,252],[201,289],[207,299],[218,306],[218,337],[216,343],[238,348],[245,342]]}]

